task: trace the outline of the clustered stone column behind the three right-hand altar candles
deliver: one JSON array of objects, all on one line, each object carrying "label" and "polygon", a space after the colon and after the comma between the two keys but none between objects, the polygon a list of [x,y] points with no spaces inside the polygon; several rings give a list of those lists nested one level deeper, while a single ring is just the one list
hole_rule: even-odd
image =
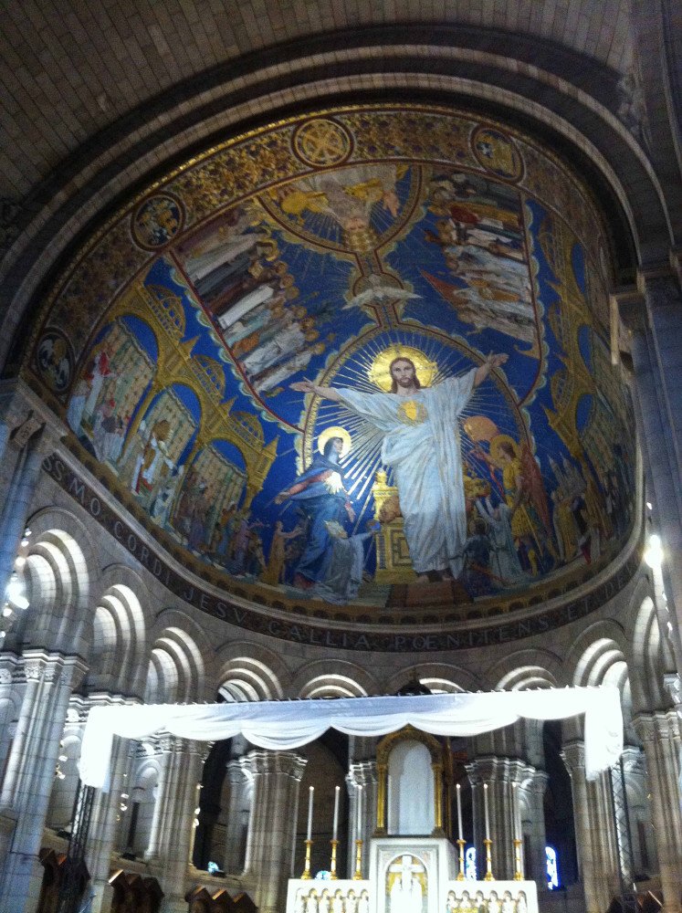
[{"label": "clustered stone column behind the three right-hand altar candles", "polygon": [[492,873],[498,880],[513,878],[514,835],[521,833],[519,797],[514,792],[527,778],[530,769],[518,759],[490,756],[471,761],[466,770],[472,789],[478,877],[486,874],[484,792],[485,784],[488,784]]}]

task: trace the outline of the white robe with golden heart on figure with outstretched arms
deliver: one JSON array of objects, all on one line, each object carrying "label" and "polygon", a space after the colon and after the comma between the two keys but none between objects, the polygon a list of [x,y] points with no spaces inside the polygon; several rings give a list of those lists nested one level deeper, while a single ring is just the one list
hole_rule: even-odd
[{"label": "white robe with golden heart on figure with outstretched arms", "polygon": [[475,374],[474,368],[408,396],[337,390],[343,405],[384,433],[382,460],[393,468],[417,573],[462,572],[467,509],[458,420]]}]

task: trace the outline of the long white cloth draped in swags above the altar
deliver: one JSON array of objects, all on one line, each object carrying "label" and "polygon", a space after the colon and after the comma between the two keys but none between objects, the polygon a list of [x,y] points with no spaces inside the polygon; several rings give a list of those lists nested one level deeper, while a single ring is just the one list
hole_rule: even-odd
[{"label": "long white cloth draped in swags above the altar", "polygon": [[519,719],[566,719],[579,714],[585,716],[585,773],[594,779],[623,750],[620,695],[613,686],[95,707],[89,711],[83,737],[80,778],[86,785],[109,788],[114,735],[145,739],[166,731],[183,739],[217,741],[241,734],[258,748],[287,751],[331,728],[352,736],[383,736],[409,724],[432,735],[475,736]]}]

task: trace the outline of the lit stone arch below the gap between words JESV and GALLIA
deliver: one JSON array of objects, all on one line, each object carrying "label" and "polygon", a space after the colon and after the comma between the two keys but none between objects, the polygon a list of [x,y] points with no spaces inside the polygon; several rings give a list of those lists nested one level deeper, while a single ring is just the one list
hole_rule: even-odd
[{"label": "lit stone arch below the gap between words JESV and GALLIA", "polygon": [[289,669],[272,650],[238,641],[219,650],[215,661],[218,692],[226,700],[284,698],[282,682],[289,681]]}]

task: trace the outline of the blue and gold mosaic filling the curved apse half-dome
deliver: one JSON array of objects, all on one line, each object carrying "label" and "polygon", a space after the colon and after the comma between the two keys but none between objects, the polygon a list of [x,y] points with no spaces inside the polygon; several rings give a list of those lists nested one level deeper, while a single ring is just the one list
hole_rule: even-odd
[{"label": "blue and gold mosaic filling the curved apse half-dome", "polygon": [[518,133],[334,110],[207,152],[113,217],[25,376],[226,593],[387,623],[509,611],[602,570],[633,525],[604,251],[585,189]]}]

